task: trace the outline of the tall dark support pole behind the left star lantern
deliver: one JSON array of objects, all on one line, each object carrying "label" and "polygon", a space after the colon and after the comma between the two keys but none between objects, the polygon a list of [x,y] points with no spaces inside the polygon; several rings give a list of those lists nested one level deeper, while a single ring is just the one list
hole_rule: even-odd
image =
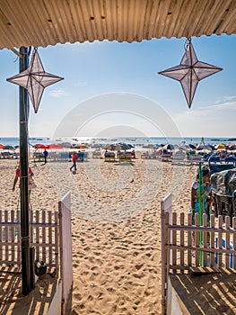
[{"label": "tall dark support pole behind the left star lantern", "polygon": [[[28,49],[20,48],[20,72],[29,66]],[[31,292],[30,232],[29,232],[29,158],[28,158],[28,91],[20,86],[20,190],[22,233],[22,294]]]}]

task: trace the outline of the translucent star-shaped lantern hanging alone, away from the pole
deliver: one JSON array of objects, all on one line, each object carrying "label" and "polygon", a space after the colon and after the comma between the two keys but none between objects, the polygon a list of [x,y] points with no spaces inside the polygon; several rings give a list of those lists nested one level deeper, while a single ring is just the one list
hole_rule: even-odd
[{"label": "translucent star-shaped lantern hanging alone, away from the pole", "polygon": [[158,72],[160,75],[169,76],[180,81],[188,107],[191,107],[193,98],[197,89],[197,84],[206,76],[214,75],[215,72],[223,70],[221,67],[215,67],[208,63],[197,60],[197,56],[191,39],[187,40],[187,47],[179,66],[170,67],[164,71]]}]

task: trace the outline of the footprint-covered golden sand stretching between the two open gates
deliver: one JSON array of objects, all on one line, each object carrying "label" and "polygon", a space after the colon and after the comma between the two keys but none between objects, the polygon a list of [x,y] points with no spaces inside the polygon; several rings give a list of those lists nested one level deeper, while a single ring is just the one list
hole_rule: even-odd
[{"label": "footprint-covered golden sand stretching between the two open gates", "polygon": [[[16,160],[0,160],[2,209],[19,208],[12,191]],[[37,188],[31,208],[57,210],[72,193],[72,314],[161,314],[160,202],[188,212],[197,166],[137,158],[132,164],[89,159],[31,163]]]}]

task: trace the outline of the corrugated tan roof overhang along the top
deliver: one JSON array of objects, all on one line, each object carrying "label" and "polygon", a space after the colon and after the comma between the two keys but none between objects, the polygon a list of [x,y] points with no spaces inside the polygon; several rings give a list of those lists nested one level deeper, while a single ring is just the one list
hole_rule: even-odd
[{"label": "corrugated tan roof overhang along the top", "polygon": [[236,0],[0,0],[0,49],[236,33]]}]

